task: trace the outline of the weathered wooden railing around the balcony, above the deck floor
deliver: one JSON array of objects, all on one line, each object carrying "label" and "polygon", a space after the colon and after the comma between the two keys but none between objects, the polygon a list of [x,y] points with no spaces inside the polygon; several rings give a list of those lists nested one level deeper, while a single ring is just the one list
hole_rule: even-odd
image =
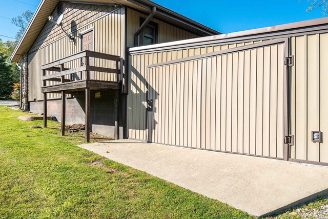
[{"label": "weathered wooden railing around the balcony, above the deck floor", "polygon": [[[91,66],[90,59],[89,59],[90,57],[116,62],[116,68],[113,69],[113,68]],[[76,59],[83,59],[83,62],[80,62],[81,66],[72,69],[65,68],[66,63],[75,61]],[[47,81],[61,82],[61,83],[71,82],[73,81],[73,74],[78,72],[85,72],[84,74],[85,78],[80,78],[80,79],[90,79],[90,72],[114,73],[116,74],[116,82],[119,82],[119,78],[120,78],[119,62],[120,62],[119,56],[84,50],[76,54],[70,55],[68,57],[59,59],[55,62],[41,66],[41,70],[43,72],[43,76],[42,76],[43,86],[47,86]],[[55,71],[56,73],[47,74],[47,71]],[[71,75],[70,79],[65,78],[66,75]]]}]

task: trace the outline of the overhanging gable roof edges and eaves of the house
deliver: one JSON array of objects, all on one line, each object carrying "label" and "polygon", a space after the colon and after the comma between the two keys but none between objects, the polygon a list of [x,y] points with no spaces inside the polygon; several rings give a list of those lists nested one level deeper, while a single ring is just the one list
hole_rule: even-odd
[{"label": "overhanging gable roof edges and eaves of the house", "polygon": [[[62,1],[68,2],[69,0]],[[10,60],[12,62],[22,61],[23,54],[29,51],[39,32],[48,21],[49,15],[56,8],[58,2],[59,0],[42,0],[32,17],[31,22],[27,26],[22,38],[20,38],[13,54],[11,55]],[[188,29],[190,32],[199,36],[220,34],[220,32],[216,30],[204,26],[186,16],[178,14],[149,0],[77,0],[74,2],[126,5],[146,14],[151,13],[152,8],[156,7],[155,17],[161,19],[164,22],[179,26],[182,29]]]}]

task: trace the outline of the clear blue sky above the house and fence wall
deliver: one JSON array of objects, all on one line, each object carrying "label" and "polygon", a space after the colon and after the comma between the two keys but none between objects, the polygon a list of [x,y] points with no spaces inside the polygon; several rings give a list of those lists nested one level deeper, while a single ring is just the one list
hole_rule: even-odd
[{"label": "clear blue sky above the house and fence wall", "polygon": [[[323,17],[321,10],[306,12],[306,0],[153,0],[222,33],[286,24]],[[0,0],[0,35],[14,37],[18,28],[10,19],[26,10],[34,12],[40,0]],[[25,4],[24,4],[25,3]],[[4,18],[6,17],[6,18]],[[7,37],[0,36],[3,41]]]}]

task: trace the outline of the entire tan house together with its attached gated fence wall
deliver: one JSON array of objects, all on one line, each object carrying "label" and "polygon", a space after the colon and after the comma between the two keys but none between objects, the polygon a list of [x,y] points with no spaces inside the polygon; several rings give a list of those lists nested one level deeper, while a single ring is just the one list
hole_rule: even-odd
[{"label": "entire tan house together with its attached gated fence wall", "polygon": [[[60,14],[74,41],[47,22]],[[29,28],[12,61],[25,64],[32,112],[115,138],[328,165],[328,18],[220,34],[150,1],[43,1]]]}]

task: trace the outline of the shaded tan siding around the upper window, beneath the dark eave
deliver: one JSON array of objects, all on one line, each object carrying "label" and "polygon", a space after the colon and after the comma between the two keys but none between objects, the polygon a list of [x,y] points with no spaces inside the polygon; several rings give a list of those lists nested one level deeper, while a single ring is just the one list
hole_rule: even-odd
[{"label": "shaded tan siding around the upper window, beneath the dark eave", "polygon": [[[134,47],[134,33],[140,27],[140,17],[147,18],[148,15],[128,8],[128,47]],[[182,39],[191,39],[198,37],[197,35],[188,31],[179,29],[173,25],[152,18],[152,22],[158,24],[158,43],[167,43],[172,41],[179,41]]]}]

